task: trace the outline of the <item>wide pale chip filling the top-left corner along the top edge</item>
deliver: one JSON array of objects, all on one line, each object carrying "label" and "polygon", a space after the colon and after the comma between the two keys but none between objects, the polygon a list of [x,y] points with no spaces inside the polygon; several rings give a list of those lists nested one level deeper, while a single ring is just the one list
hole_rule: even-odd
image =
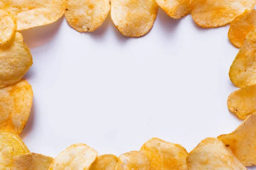
[{"label": "wide pale chip filling the top-left corner along the top edge", "polygon": [[18,31],[55,22],[65,6],[66,0],[0,0],[0,8],[16,17]]}]

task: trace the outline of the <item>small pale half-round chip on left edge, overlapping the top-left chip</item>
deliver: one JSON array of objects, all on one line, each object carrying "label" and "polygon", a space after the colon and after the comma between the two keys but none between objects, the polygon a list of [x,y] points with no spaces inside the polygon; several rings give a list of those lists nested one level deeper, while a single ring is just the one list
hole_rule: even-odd
[{"label": "small pale half-round chip on left edge, overlapping the top-left chip", "polygon": [[12,14],[0,9],[0,46],[8,43],[14,36],[17,23]]}]

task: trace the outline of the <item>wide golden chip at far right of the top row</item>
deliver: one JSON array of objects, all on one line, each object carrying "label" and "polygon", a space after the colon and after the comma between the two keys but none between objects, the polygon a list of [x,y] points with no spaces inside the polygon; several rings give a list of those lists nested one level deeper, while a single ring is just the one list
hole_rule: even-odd
[{"label": "wide golden chip at far right of the top row", "polygon": [[246,9],[253,10],[256,0],[192,0],[192,18],[198,26],[225,26]]}]

